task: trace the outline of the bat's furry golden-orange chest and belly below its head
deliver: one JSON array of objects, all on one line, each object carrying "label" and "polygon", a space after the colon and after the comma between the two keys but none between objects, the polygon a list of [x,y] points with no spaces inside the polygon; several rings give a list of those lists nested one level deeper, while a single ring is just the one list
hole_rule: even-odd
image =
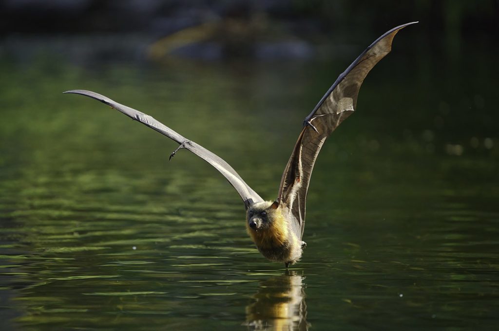
[{"label": "bat's furry golden-orange chest and belly below its head", "polygon": [[282,216],[269,228],[249,229],[249,233],[258,251],[270,261],[294,263],[301,258],[301,241]]}]

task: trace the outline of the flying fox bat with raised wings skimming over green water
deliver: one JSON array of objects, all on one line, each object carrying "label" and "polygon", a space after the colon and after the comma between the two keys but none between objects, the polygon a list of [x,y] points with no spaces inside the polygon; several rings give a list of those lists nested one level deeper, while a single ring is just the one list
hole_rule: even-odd
[{"label": "flying fox bat with raised wings skimming over green water", "polygon": [[103,95],[85,90],[71,90],[88,96],[114,108],[133,120],[158,131],[176,141],[181,149],[196,154],[213,165],[234,186],[243,199],[246,209],[246,228],[260,253],[270,261],[289,264],[301,258],[306,243],[302,241],[305,226],[305,202],[310,175],[326,138],[355,110],[360,86],[367,73],[392,47],[395,34],[410,22],[397,26],[376,39],[348,68],[319,100],[312,112],[303,121],[291,157],[284,168],[277,198],[263,200],[227,162],[201,145],[183,137],[149,115],[119,104]]}]

